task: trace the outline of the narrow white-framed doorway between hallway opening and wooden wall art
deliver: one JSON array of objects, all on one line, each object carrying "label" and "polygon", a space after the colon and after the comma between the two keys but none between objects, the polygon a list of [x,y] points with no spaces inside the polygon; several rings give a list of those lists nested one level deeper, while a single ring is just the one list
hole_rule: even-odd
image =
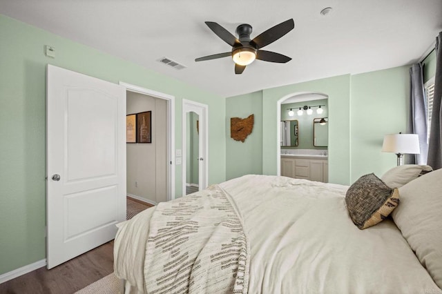
[{"label": "narrow white-framed doorway between hallway opening and wooden wall art", "polygon": [[182,106],[182,195],[207,186],[207,106],[183,99]]}]

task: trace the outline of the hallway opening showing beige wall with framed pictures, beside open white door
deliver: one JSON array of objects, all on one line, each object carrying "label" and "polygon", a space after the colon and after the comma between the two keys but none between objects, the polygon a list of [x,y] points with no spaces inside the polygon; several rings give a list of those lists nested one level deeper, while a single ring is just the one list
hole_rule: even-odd
[{"label": "hallway opening showing beige wall with framed pictures, beside open white door", "polygon": [[166,100],[127,91],[126,115],[135,135],[126,143],[127,195],[153,205],[166,202]]}]

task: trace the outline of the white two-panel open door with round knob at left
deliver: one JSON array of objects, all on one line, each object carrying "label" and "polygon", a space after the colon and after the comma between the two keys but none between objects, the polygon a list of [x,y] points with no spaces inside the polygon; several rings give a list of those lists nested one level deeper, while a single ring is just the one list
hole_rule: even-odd
[{"label": "white two-panel open door with round knob at left", "polygon": [[48,268],[115,237],[126,219],[126,89],[48,65]]}]

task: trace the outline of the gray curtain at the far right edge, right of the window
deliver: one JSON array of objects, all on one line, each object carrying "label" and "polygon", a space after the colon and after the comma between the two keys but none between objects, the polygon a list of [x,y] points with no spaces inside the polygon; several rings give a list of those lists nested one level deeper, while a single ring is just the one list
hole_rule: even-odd
[{"label": "gray curtain at the far right edge, right of the window", "polygon": [[428,143],[427,164],[434,170],[442,168],[442,32],[436,37],[436,75],[434,75],[434,100]]}]

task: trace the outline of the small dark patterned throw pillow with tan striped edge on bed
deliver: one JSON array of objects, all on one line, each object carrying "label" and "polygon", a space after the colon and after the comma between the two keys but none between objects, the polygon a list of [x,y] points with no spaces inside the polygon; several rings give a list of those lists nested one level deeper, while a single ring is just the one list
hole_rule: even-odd
[{"label": "small dark patterned throw pillow with tan striped edge on bed", "polygon": [[397,188],[385,185],[374,173],[360,177],[345,194],[347,210],[356,226],[363,230],[385,219],[399,204]]}]

